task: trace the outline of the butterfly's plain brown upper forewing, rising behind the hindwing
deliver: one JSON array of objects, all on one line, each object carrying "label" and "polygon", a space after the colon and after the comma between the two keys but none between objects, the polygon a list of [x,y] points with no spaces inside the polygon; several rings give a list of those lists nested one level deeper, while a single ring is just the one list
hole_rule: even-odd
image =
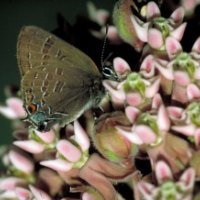
[{"label": "butterfly's plain brown upper forewing, rising behind the hindwing", "polygon": [[79,49],[36,26],[21,29],[17,42],[17,60],[23,76],[35,67],[59,66],[76,68],[100,76],[94,62]]}]

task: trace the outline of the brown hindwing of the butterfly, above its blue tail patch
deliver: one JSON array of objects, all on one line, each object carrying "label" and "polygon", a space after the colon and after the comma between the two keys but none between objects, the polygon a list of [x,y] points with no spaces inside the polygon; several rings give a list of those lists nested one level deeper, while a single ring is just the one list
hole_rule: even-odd
[{"label": "brown hindwing of the butterfly, above its blue tail patch", "polygon": [[43,102],[40,111],[50,107],[52,113],[67,114],[63,120],[69,123],[93,105],[99,95],[93,82],[98,79],[73,68],[36,67],[23,76],[21,91],[25,105]]}]

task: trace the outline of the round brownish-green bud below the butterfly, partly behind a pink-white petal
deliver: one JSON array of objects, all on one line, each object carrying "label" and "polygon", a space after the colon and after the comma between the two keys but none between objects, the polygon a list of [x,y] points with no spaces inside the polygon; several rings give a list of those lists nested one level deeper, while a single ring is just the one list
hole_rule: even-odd
[{"label": "round brownish-green bud below the butterfly, partly behind a pink-white petal", "polygon": [[121,162],[137,153],[137,146],[118,133],[116,126],[129,126],[122,112],[103,115],[96,124],[93,140],[99,152],[108,160]]}]

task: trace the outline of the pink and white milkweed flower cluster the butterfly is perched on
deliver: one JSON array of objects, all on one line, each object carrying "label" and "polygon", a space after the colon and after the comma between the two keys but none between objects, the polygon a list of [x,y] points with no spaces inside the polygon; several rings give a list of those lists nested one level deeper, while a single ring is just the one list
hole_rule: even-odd
[{"label": "pink and white milkweed flower cluster the butterfly is perched on", "polygon": [[[134,70],[109,57],[117,80],[103,80],[101,111],[43,133],[29,127],[20,95],[0,113],[13,121],[14,142],[2,154],[1,199],[198,199],[200,188],[200,38],[184,51],[181,39],[198,1],[181,1],[168,17],[150,1],[119,0],[107,30],[114,47],[140,54]],[[104,38],[110,14],[87,4]],[[129,53],[129,52],[128,52]],[[97,118],[97,119],[96,119]]]}]

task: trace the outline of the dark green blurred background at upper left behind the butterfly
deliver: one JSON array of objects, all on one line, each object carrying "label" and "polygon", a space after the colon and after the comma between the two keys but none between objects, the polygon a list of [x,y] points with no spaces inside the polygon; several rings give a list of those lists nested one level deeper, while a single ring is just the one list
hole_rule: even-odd
[{"label": "dark green blurred background at upper left behind the butterfly", "polygon": [[[0,1],[0,103],[4,104],[4,88],[19,86],[16,42],[24,25],[36,25],[52,31],[57,27],[56,15],[61,13],[71,24],[77,15],[87,16],[86,0],[1,0]],[[115,0],[93,0],[98,8],[112,11]],[[0,145],[11,143],[11,121],[0,115]]]}]

